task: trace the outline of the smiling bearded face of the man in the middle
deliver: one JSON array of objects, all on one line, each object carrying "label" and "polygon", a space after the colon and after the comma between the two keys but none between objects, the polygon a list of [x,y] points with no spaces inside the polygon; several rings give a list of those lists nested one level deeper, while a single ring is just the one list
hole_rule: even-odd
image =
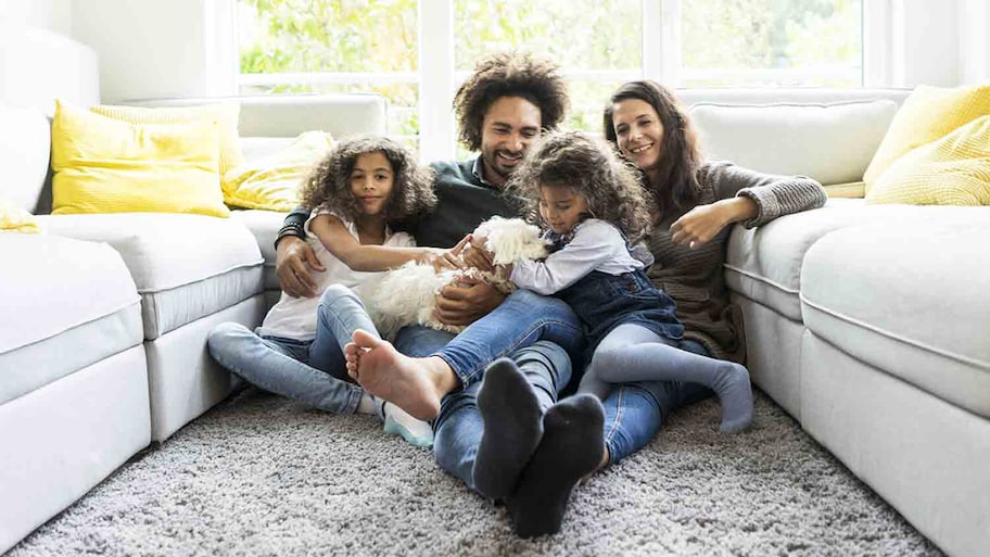
[{"label": "smiling bearded face of the man in the middle", "polygon": [[481,160],[485,180],[502,186],[540,137],[540,107],[521,97],[500,97],[481,123]]}]

